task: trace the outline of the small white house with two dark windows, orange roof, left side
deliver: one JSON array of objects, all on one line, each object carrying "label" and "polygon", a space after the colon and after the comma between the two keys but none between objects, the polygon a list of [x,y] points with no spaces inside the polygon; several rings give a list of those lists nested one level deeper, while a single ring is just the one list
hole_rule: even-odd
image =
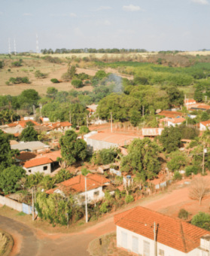
[{"label": "small white house with two dark windows, orange roof, left side", "polygon": [[26,170],[26,174],[31,174],[31,173],[35,174],[36,172],[50,174],[51,163],[53,163],[53,161],[50,160],[49,158],[39,157],[39,158],[34,158],[32,160],[23,162],[22,166],[23,166],[23,169]]}]

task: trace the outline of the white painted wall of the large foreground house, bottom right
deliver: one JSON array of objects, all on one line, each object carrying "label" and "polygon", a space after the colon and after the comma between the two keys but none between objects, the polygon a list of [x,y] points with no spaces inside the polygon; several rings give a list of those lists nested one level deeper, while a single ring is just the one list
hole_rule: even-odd
[{"label": "white painted wall of the large foreground house, bottom right", "polygon": [[[143,255],[143,241],[150,243],[150,256],[154,256],[154,240],[149,239],[145,236],[138,235],[137,233],[133,233],[132,231],[126,230],[123,227],[117,226],[117,247],[122,247],[122,231],[127,233],[127,249],[132,251],[132,236],[138,237],[138,254]],[[178,251],[175,248],[171,248],[167,245],[163,245],[160,242],[157,242],[157,256],[159,256],[159,250],[164,251],[164,256],[199,256],[199,249],[196,248],[193,251],[188,253],[184,253],[182,251]]]}]

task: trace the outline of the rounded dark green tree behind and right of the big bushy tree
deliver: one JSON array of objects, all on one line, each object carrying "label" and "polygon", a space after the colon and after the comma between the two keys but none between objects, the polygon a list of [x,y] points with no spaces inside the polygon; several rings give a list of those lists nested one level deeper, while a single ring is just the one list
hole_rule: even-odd
[{"label": "rounded dark green tree behind and right of the big bushy tree", "polygon": [[165,127],[159,136],[159,142],[167,153],[176,151],[181,145],[181,132],[178,127]]}]

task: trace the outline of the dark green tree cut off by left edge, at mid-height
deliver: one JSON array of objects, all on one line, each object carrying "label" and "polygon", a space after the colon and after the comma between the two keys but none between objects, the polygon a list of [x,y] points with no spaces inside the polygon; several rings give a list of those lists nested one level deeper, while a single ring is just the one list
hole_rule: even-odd
[{"label": "dark green tree cut off by left edge, at mid-height", "polygon": [[20,151],[11,149],[8,137],[0,130],[0,171],[15,163],[14,157],[17,154],[20,154]]}]

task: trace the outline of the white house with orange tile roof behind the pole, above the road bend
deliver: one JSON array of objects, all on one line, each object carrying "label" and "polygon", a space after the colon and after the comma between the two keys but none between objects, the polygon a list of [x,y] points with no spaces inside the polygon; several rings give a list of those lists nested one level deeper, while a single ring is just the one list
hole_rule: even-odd
[{"label": "white house with orange tile roof behind the pole, above the road bend", "polygon": [[[114,193],[114,187],[111,186],[110,180],[105,178],[104,175],[87,174],[87,203],[96,203],[105,196],[105,189],[108,189],[111,194]],[[75,200],[79,204],[85,203],[85,177],[84,175],[78,175],[74,178],[69,178],[67,181],[63,181],[56,184],[56,188],[46,191],[47,194],[58,193],[63,196],[70,193],[75,194]]]}]

